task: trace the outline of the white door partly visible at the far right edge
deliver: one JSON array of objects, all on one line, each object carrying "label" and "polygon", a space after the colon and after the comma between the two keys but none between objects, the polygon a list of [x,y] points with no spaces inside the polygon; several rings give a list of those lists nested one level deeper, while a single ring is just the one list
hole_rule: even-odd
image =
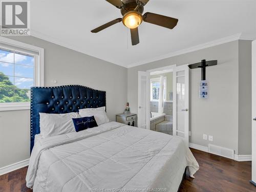
[{"label": "white door partly visible at the far right edge", "polygon": [[256,186],[256,40],[252,42],[252,179],[251,183]]}]

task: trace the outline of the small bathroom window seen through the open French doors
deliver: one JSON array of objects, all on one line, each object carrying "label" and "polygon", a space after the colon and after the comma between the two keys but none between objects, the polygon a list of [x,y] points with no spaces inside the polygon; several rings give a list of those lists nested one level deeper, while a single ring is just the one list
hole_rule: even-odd
[{"label": "small bathroom window seen through the open French doors", "polygon": [[[151,81],[151,101],[159,101],[160,77],[152,78]],[[163,100],[166,101],[166,77],[163,80]]]}]

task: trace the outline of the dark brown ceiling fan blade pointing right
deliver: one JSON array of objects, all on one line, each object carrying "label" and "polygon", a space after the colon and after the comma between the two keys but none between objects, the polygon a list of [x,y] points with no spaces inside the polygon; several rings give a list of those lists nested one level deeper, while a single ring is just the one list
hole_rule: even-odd
[{"label": "dark brown ceiling fan blade pointing right", "polygon": [[178,23],[177,18],[167,17],[164,15],[159,15],[150,12],[146,12],[143,15],[143,20],[144,22],[166,27],[168,29],[173,29]]}]

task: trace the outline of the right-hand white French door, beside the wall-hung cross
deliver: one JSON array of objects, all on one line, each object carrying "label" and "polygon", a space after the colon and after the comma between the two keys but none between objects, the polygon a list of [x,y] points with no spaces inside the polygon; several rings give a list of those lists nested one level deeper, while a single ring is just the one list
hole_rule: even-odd
[{"label": "right-hand white French door, beside the wall-hung cross", "polygon": [[188,146],[189,131],[189,69],[178,66],[173,72],[173,135],[181,137]]}]

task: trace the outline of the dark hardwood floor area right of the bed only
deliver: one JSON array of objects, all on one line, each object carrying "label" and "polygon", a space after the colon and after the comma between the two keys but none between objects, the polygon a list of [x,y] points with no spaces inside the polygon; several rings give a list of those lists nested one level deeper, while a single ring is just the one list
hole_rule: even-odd
[{"label": "dark hardwood floor area right of the bed only", "polygon": [[251,179],[251,162],[238,162],[202,151],[191,151],[197,159],[200,169],[182,182],[180,192],[194,191],[256,191],[249,183]]}]

